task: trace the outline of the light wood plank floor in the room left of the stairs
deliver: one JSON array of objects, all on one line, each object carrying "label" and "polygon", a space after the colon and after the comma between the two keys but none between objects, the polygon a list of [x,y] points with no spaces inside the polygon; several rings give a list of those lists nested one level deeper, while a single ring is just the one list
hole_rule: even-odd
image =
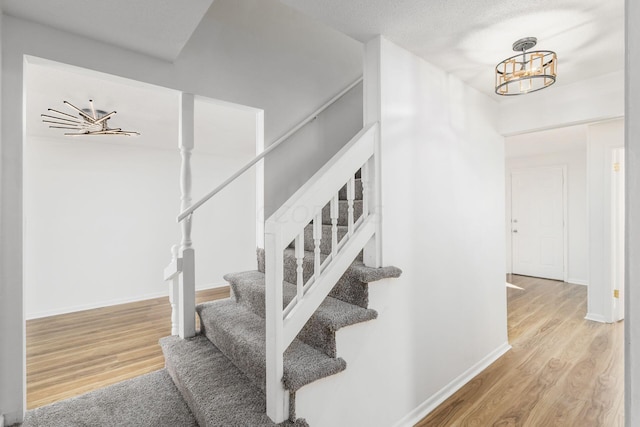
[{"label": "light wood plank floor in the room left of the stairs", "polygon": [[[197,292],[197,302],[229,288]],[[164,367],[158,340],[171,334],[169,298],[27,321],[27,408]]]}]

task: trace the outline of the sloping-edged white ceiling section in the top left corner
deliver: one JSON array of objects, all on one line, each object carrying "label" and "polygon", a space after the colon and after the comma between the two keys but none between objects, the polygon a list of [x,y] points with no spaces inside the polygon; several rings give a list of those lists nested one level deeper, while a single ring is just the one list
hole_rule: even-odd
[{"label": "sloping-edged white ceiling section in the top left corner", "polygon": [[213,0],[0,0],[0,8],[7,15],[173,61],[212,3]]}]

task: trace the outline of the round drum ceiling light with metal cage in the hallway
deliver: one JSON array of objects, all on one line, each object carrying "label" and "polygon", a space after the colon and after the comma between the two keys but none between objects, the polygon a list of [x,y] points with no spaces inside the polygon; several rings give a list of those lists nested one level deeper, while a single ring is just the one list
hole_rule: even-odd
[{"label": "round drum ceiling light with metal cage in the hallway", "polygon": [[496,93],[513,96],[535,92],[556,82],[558,58],[550,50],[527,52],[538,43],[535,37],[525,37],[513,44],[521,52],[496,65]]}]

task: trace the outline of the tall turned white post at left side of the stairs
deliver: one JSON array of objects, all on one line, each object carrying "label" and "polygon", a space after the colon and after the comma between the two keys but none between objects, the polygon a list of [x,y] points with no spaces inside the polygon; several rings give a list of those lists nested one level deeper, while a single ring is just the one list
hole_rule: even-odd
[{"label": "tall turned white post at left side of the stairs", "polygon": [[[180,167],[180,210],[191,206],[191,153],[194,146],[194,96],[182,93],[180,97],[179,148],[182,164]],[[182,274],[180,276],[179,310],[180,330],[182,338],[192,337],[196,333],[196,280],[195,253],[191,241],[191,221],[189,215],[181,222],[182,242],[180,253],[182,258]]]}]

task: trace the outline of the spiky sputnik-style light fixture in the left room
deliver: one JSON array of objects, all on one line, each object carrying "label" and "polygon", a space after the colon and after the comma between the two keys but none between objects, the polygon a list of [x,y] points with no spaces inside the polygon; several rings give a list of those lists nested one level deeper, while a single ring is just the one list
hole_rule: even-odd
[{"label": "spiky sputnik-style light fixture in the left room", "polygon": [[115,111],[107,113],[103,110],[96,110],[93,101],[89,100],[89,108],[82,110],[68,101],[63,101],[67,106],[78,113],[78,116],[63,113],[62,111],[49,108],[48,111],[55,113],[40,114],[44,123],[51,123],[50,128],[53,129],[69,129],[77,132],[67,132],[66,136],[84,136],[84,135],[140,135],[138,132],[122,130],[120,128],[110,128],[107,121],[116,114]]}]

